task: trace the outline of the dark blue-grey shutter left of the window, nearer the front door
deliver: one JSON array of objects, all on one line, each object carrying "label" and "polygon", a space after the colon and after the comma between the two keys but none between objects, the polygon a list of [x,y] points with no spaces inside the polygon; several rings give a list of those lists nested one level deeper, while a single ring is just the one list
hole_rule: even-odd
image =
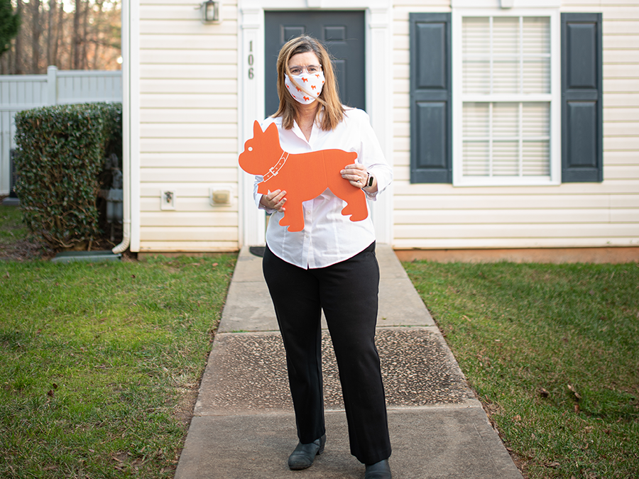
[{"label": "dark blue-grey shutter left of the window, nearer the front door", "polygon": [[450,13],[410,13],[410,182],[452,182]]}]

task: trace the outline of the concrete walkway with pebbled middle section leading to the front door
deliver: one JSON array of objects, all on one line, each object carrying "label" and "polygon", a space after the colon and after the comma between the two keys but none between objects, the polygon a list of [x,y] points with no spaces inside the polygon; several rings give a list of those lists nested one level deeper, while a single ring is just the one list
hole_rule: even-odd
[{"label": "concrete walkway with pebbled middle section leading to the front door", "polygon": [[[377,258],[376,344],[393,478],[521,479],[395,253],[378,244]],[[311,468],[292,471],[287,460],[297,436],[285,353],[261,258],[243,248],[175,478],[364,478],[364,466],[349,453],[326,331],[322,351],[327,446]]]}]

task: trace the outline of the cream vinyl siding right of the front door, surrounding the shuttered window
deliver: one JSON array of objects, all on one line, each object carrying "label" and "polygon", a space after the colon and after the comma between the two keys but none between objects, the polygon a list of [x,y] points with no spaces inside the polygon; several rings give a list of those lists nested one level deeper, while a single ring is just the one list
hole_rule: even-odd
[{"label": "cream vinyl siding right of the front door, surrounding the shuttered window", "polygon": [[408,14],[451,9],[394,5],[395,248],[639,246],[639,0],[563,2],[603,13],[604,180],[552,187],[410,184]]}]

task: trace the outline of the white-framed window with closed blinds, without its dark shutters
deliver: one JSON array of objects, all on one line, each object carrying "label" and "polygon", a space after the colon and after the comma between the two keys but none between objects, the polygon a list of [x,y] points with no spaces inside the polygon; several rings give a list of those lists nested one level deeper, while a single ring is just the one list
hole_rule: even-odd
[{"label": "white-framed window with closed blinds, without its dark shutters", "polygon": [[559,183],[557,14],[456,12],[453,182]]}]

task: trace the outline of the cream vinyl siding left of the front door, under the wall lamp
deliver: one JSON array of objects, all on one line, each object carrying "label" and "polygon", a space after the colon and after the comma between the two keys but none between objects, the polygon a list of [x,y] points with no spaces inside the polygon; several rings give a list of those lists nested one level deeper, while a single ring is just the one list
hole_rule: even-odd
[{"label": "cream vinyl siding left of the front door, under the wall lamp", "polygon": [[[204,25],[198,2],[141,0],[140,250],[238,248],[237,5]],[[230,185],[231,205],[209,188]],[[160,191],[175,211],[160,210]]]}]

